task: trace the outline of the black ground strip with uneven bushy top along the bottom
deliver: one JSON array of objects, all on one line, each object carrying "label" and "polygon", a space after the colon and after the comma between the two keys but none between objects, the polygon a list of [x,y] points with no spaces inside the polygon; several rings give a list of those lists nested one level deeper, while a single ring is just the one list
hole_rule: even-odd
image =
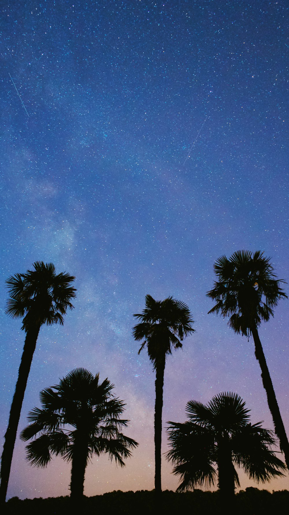
[{"label": "black ground strip with uneven bushy top along the bottom", "polygon": [[[272,513],[287,513],[289,505],[289,491],[281,490],[273,493],[258,488],[246,488],[235,496],[236,506],[234,515],[271,515]],[[6,503],[9,515],[29,513],[29,515],[65,515],[74,513],[69,497],[49,497],[48,499],[25,499],[12,497]],[[154,491],[141,490],[138,492],[122,492],[120,490],[84,497],[81,504],[81,515],[93,515],[105,513],[105,515],[142,515],[142,513],[154,514]],[[176,493],[166,490],[161,494],[161,512],[166,515],[176,513],[190,513],[192,515],[207,515],[223,513],[219,509],[219,492],[193,492]]]}]

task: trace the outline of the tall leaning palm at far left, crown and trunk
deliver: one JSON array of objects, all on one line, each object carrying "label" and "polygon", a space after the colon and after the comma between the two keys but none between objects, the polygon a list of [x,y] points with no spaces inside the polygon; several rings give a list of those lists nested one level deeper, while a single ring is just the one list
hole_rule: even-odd
[{"label": "tall leaning palm at far left, crown and trunk", "polygon": [[67,308],[74,307],[70,300],[76,296],[76,289],[70,285],[73,276],[65,272],[57,275],[52,263],[37,261],[33,267],[34,270],[16,273],[6,281],[10,293],[6,313],[12,318],[24,317],[22,329],[26,337],[1,458],[0,505],[6,500],[21,407],[41,325],[63,325]]}]

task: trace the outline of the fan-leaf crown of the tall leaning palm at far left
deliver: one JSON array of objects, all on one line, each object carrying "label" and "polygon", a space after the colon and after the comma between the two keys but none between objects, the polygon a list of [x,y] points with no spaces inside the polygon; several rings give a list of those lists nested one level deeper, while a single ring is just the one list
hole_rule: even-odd
[{"label": "fan-leaf crown of the tall leaning palm at far left", "polygon": [[76,289],[70,286],[75,280],[68,273],[55,273],[52,263],[33,263],[34,270],[16,273],[7,279],[10,299],[6,313],[12,318],[23,318],[22,329],[27,332],[30,325],[37,323],[63,325],[67,308],[73,309],[70,299],[75,298]]}]

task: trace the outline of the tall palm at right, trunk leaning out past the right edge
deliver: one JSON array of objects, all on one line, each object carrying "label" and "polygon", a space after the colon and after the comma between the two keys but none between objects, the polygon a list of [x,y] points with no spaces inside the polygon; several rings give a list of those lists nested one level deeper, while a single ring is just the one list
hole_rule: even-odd
[{"label": "tall palm at right, trunk leaning out past the right edge", "polygon": [[228,325],[236,333],[254,338],[255,356],[261,367],[261,377],[266,390],[267,401],[273,417],[275,433],[284,452],[289,469],[289,443],[281,418],[272,380],[266,364],[263,348],[258,334],[262,320],[269,320],[274,315],[273,308],[279,299],[287,298],[280,287],[282,280],[277,280],[269,259],[263,252],[234,252],[230,259],[219,258],[214,264],[218,281],[207,296],[216,301],[209,313],[229,317]]}]

